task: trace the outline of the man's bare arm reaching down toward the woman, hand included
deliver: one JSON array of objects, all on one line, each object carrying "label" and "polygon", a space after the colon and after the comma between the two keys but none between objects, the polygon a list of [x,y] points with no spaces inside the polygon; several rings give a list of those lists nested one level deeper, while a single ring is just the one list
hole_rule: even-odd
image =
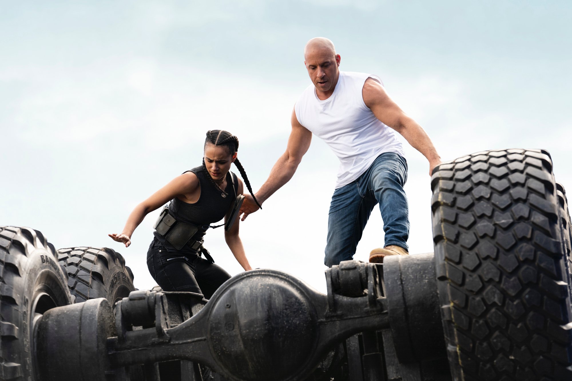
[{"label": "man's bare arm reaching down toward the woman, hand included", "polygon": [[[286,184],[294,176],[302,156],[308,152],[310,142],[312,141],[312,133],[298,122],[295,110],[292,110],[291,124],[292,132],[288,138],[286,152],[276,161],[276,164],[270,171],[268,180],[256,192],[255,196],[260,204],[264,203],[268,197],[272,196],[276,190],[280,189],[282,185]],[[243,206],[240,208],[242,220],[244,221],[250,213],[254,213],[258,209],[252,196],[245,195]]]}]

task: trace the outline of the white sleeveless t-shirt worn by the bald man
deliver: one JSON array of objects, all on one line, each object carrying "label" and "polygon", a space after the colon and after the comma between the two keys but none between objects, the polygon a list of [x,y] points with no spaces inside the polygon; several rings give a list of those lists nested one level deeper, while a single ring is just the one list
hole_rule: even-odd
[{"label": "white sleeveless t-shirt worn by the bald man", "polygon": [[339,158],[336,189],[356,180],[381,153],[404,156],[395,130],[376,118],[363,101],[363,85],[370,77],[382,83],[373,74],[340,72],[327,100],[316,96],[312,84],[294,108],[300,124],[323,139]]}]

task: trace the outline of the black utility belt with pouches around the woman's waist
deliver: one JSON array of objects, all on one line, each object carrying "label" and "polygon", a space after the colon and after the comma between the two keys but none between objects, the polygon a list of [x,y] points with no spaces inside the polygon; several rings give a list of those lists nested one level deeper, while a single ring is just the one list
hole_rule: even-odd
[{"label": "black utility belt with pouches around the woman's waist", "polygon": [[202,240],[197,241],[193,239],[199,227],[197,225],[177,221],[169,214],[167,207],[163,208],[153,228],[159,235],[164,236],[165,240],[173,245],[176,250],[181,250],[186,244],[190,243],[190,245],[188,245],[190,249],[197,253],[203,253],[207,260],[215,263],[208,250],[202,247]]}]

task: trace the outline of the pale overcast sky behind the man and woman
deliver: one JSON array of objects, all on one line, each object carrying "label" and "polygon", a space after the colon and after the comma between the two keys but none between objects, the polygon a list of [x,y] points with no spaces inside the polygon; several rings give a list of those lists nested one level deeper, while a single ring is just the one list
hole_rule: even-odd
[{"label": "pale overcast sky behind the man and woman", "polygon": [[[378,74],[443,160],[545,148],[572,189],[569,1],[0,1],[0,224],[56,248],[110,247],[145,264],[151,213],[125,248],[135,205],[201,162],[206,130],[240,139],[257,190],[283,153],[310,84],[305,42],[332,39],[341,70]],[[433,251],[428,164],[406,144],[410,252]],[[323,251],[337,158],[314,138],[293,179],[241,223],[253,267],[325,292]],[[237,172],[236,169],[234,169]],[[379,209],[355,259],[383,246]],[[241,271],[222,229],[205,246]]]}]

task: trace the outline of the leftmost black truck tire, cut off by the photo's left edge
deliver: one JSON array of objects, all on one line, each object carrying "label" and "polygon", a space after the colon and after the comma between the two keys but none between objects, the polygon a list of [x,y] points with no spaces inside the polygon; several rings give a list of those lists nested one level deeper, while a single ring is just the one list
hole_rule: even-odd
[{"label": "leftmost black truck tire, cut off by the photo's left edge", "polygon": [[41,232],[0,226],[0,380],[37,380],[34,324],[72,303],[66,273]]}]

